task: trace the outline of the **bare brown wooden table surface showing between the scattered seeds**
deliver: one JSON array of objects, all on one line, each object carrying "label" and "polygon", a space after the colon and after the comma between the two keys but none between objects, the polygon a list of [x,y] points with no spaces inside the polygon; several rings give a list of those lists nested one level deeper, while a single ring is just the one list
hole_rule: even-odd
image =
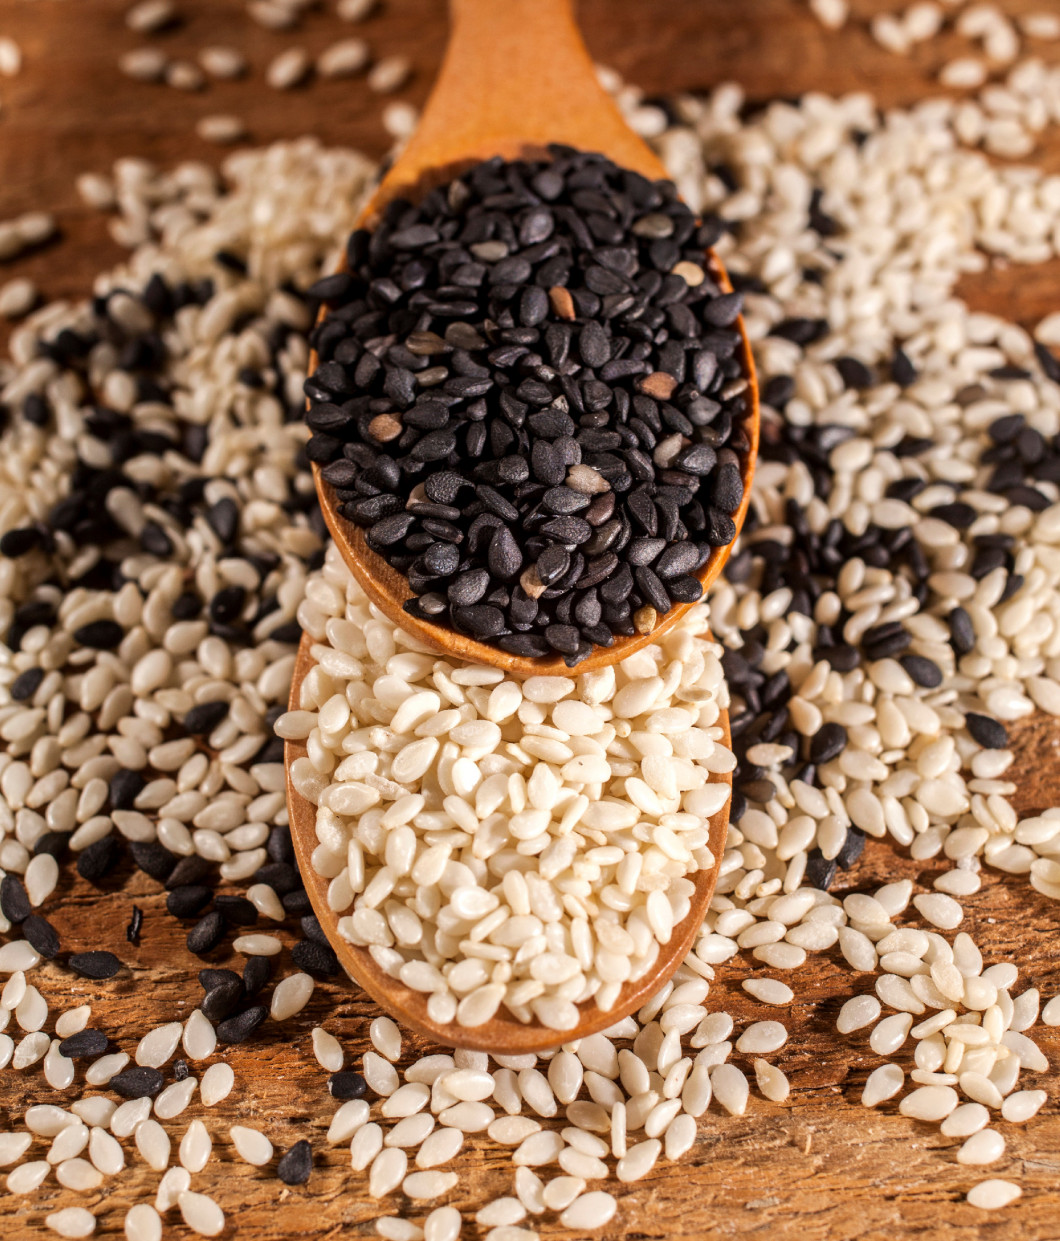
[{"label": "bare brown wooden table surface showing between the scattered seeds", "polygon": [[[285,42],[318,51],[355,32],[325,11],[309,14],[295,35],[277,35],[251,24],[237,0],[177,0],[185,24],[161,41],[175,55],[187,55],[206,42],[231,42],[246,50],[253,77],[212,86],[185,96],[148,87],[117,74],[118,52],[139,40],[125,30],[120,0],[0,0],[0,34],[12,35],[24,48],[24,72],[0,78],[0,220],[29,208],[57,213],[65,240],[15,263],[0,264],[0,283],[12,274],[31,276],[45,295],[79,297],[93,273],[119,257],[98,216],[82,208],[73,191],[74,175],[103,170],[118,155],[139,155],[160,163],[194,156],[220,161],[223,153],[197,139],[196,118],[215,112],[242,115],[256,143],[315,133],[328,143],[350,143],[380,155],[389,145],[381,105],[362,81],[318,82],[278,94],[262,84],[264,65]],[[503,2],[503,0],[499,0]],[[1055,0],[1012,0],[1014,11],[1045,9]],[[329,5],[330,7],[330,5]],[[896,7],[890,0],[855,0],[859,17]],[[855,24],[840,35],[825,34],[801,0],[582,0],[581,19],[593,53],[618,68],[649,93],[704,89],[734,78],[752,98],[797,94],[808,89],[832,93],[870,89],[885,104],[909,103],[930,87],[940,62],[937,46],[921,48],[911,60],[895,57]],[[437,67],[444,38],[442,0],[385,0],[362,32],[380,55],[405,52],[416,77],[402,97],[421,103]],[[953,45],[942,41],[942,50]],[[1060,168],[1060,135],[1055,132],[1040,154],[1044,166]],[[1060,264],[1033,269],[992,269],[967,289],[981,307],[1033,321],[1056,309]],[[1056,804],[1060,793],[1058,740],[1049,724],[1018,730],[1022,812]],[[871,887],[899,876],[930,885],[940,866],[921,867],[887,846],[870,844],[858,867],[845,876],[851,887]],[[141,946],[124,942],[130,898],[144,908]],[[1060,907],[1038,896],[1024,880],[989,876],[983,891],[966,903],[969,930],[988,963],[1012,959],[1023,985],[1038,985],[1044,997],[1060,989]],[[197,1000],[194,980],[199,962],[184,946],[180,926],[164,908],[163,894],[143,875],[124,875],[117,890],[98,894],[86,885],[61,889],[50,912],[63,944],[71,948],[114,947],[133,965],[133,978],[97,987],[71,984],[46,967],[41,989],[62,1006],[93,999],[93,1024],[109,1031],[129,1030],[128,1047],[151,1025],[186,1015]],[[211,962],[225,964],[223,958]],[[710,1004],[727,1008],[737,1019],[761,1018],[740,989],[743,963],[719,970]],[[813,959],[793,984],[798,998],[788,1019],[792,1037],[775,1059],[792,1081],[788,1103],[776,1106],[758,1097],[746,1116],[732,1118],[711,1109],[700,1124],[694,1149],[679,1165],[660,1162],[654,1173],[631,1186],[619,1186],[621,1210],[604,1230],[607,1241],[636,1239],[765,1237],[770,1241],[895,1241],[930,1237],[971,1241],[973,1237],[1014,1241],[1055,1241],[1060,1237],[1060,1113],[1055,1077],[1046,1081],[1050,1102],[1029,1126],[1003,1126],[1009,1140],[1005,1158],[989,1172],[956,1163],[957,1142],[937,1128],[916,1124],[884,1104],[868,1111],[859,1103],[868,1072],[878,1064],[866,1039],[843,1039],[834,1023],[839,1005],[856,990],[869,990],[833,954]],[[855,985],[856,984],[856,985]],[[98,993],[101,994],[97,998]],[[61,999],[62,998],[62,999]],[[328,1149],[324,1134],[334,1111],[325,1075],[309,1046],[309,1031],[321,1020],[344,1037],[349,1060],[365,1050],[372,1008],[343,985],[318,985],[309,1008],[288,1026],[283,1042],[258,1039],[232,1049],[233,1093],[212,1111],[197,1104],[169,1124],[182,1133],[192,1114],[204,1114],[215,1139],[216,1158],[195,1178],[197,1188],[215,1194],[227,1212],[225,1237],[246,1241],[338,1239],[374,1235],[380,1212],[366,1195],[365,1176],[351,1173],[344,1147]],[[1040,1044],[1055,1064],[1060,1030],[1039,1028]],[[406,1052],[418,1052],[410,1044]],[[1039,1082],[1026,1075],[1028,1085]],[[31,1102],[52,1092],[37,1071],[5,1072],[0,1086],[0,1123],[16,1118]],[[752,1092],[756,1095],[756,1092]],[[76,1097],[71,1095],[71,1097]],[[313,1139],[317,1169],[308,1186],[287,1189],[269,1172],[235,1160],[228,1126],[243,1122],[264,1129],[283,1149],[303,1136]],[[127,1143],[129,1145],[129,1143]],[[40,1150],[37,1144],[34,1150]],[[43,1158],[35,1153],[31,1158]],[[97,1235],[122,1235],[124,1211],[138,1198],[153,1196],[158,1175],[132,1155],[133,1170],[87,1195],[99,1215]],[[490,1198],[511,1191],[506,1150],[489,1142],[470,1142],[456,1160],[460,1183],[447,1199],[468,1217]],[[1012,1176],[1024,1186],[1014,1207],[988,1215],[968,1206],[964,1193],[986,1175]],[[608,1183],[614,1190],[616,1184]],[[78,1195],[58,1191],[55,1181],[29,1200],[0,1196],[0,1237],[41,1241],[46,1210],[73,1205]],[[400,1199],[385,1200],[382,1211],[398,1210]],[[423,1211],[417,1211],[422,1217]],[[173,1216],[176,1212],[171,1212]],[[464,1235],[482,1235],[472,1222]],[[554,1224],[545,1236],[568,1236]],[[166,1222],[166,1236],[190,1237],[177,1220]]]}]

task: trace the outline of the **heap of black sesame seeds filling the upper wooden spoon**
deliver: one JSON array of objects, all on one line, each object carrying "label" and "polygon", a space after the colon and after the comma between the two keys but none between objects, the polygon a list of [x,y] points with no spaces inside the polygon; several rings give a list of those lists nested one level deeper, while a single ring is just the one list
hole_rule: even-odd
[{"label": "heap of black sesame seeds filling the upper wooden spoon", "polygon": [[743,499],[741,294],[668,181],[490,160],[310,290],[309,457],[407,611],[570,665],[703,587]]}]

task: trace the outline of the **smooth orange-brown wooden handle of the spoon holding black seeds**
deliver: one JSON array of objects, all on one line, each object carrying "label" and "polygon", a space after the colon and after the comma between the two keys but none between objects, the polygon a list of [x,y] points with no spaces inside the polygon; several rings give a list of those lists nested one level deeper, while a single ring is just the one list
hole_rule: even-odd
[{"label": "smooth orange-brown wooden handle of the spoon holding black seeds", "polygon": [[460,165],[541,154],[549,143],[603,151],[649,177],[655,155],[601,87],[570,0],[451,0],[446,57],[420,125],[372,207]]}]

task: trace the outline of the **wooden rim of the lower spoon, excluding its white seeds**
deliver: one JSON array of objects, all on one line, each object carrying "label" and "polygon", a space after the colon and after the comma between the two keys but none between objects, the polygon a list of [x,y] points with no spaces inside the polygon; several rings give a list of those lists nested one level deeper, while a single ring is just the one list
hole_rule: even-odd
[{"label": "wooden rim of the lower spoon, excluding its white seeds", "polygon": [[[302,635],[302,644],[298,648],[298,660],[294,665],[294,678],[290,685],[290,710],[299,706],[299,692],[302,681],[307,673],[314,666],[310,647],[313,640],[309,634]],[[724,742],[730,743],[729,714],[721,712],[720,721],[724,730]],[[549,1047],[559,1046],[573,1039],[585,1039],[598,1030],[606,1030],[614,1025],[623,1016],[634,1013],[645,1004],[652,995],[667,982],[678,965],[688,956],[695,941],[703,920],[706,916],[706,907],[714,895],[714,886],[717,882],[717,872],[721,858],[725,853],[725,835],[729,830],[729,802],[710,820],[710,839],[707,841],[710,851],[714,854],[715,864],[710,870],[701,870],[693,875],[695,891],[691,897],[691,908],[683,922],[674,927],[674,932],[655,959],[654,967],[634,983],[627,983],[622,988],[614,1008],[602,1013],[592,1000],[581,1005],[581,1016],[576,1029],[556,1031],[549,1026],[529,1024],[524,1025],[509,1015],[505,1009],[499,1009],[496,1015],[478,1026],[439,1025],[427,1014],[427,997],[421,992],[413,992],[396,978],[386,974],[366,948],[359,948],[344,939],[339,934],[339,917],[328,905],[329,881],[319,875],[313,866],[313,850],[317,848],[317,808],[307,800],[294,787],[290,778],[290,768],[295,758],[305,755],[305,746],[298,741],[285,743],[284,762],[287,768],[287,808],[290,815],[290,836],[294,841],[294,853],[298,858],[298,869],[313,902],[313,911],[328,936],[328,941],[335,951],[343,968],[364,990],[376,1000],[381,1008],[386,1009],[391,1016],[410,1030],[426,1035],[437,1042],[448,1044],[454,1047],[468,1047],[473,1051],[490,1051],[496,1055],[519,1055],[526,1051],[544,1051]],[[732,776],[714,776],[714,782],[727,784],[731,789]],[[344,911],[345,913],[346,911]]]}]

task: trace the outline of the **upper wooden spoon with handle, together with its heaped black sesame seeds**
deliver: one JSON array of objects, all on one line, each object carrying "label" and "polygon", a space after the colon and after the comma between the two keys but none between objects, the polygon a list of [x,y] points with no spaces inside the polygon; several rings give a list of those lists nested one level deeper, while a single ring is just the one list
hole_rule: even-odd
[{"label": "upper wooden spoon with handle, together with its heaped black sesame seeds", "polygon": [[582,673],[675,624],[742,525],[741,298],[568,0],[451,11],[422,120],[314,288],[308,453],[391,620],[510,675]]}]

